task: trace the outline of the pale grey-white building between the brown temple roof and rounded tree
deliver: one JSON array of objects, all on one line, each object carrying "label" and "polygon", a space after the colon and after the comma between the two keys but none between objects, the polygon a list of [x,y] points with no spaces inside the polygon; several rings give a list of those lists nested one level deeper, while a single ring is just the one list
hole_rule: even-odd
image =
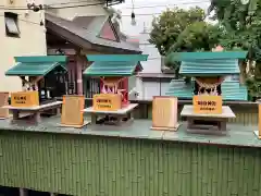
[{"label": "pale grey-white building between the brown temple roof and rounded tree", "polygon": [[[140,62],[144,70],[133,78],[132,98],[150,100],[153,96],[163,96],[174,74],[165,74],[163,58],[154,45],[149,42],[149,29],[144,23],[142,32],[133,38],[139,41],[139,48],[145,54],[149,54],[148,61]],[[135,81],[135,82],[134,82]],[[136,93],[137,96],[133,96]]]}]

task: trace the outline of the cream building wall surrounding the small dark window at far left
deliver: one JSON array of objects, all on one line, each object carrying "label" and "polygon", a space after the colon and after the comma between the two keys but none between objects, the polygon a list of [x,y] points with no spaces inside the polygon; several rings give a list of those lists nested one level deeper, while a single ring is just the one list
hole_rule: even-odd
[{"label": "cream building wall surrounding the small dark window at far left", "polygon": [[[38,0],[38,2],[40,1]],[[26,8],[26,1],[14,0],[14,4],[8,4],[8,1],[4,0],[0,1],[0,7]],[[9,37],[5,35],[4,12],[17,14],[20,37]],[[46,54],[46,28],[39,25],[40,19],[40,13],[34,13],[32,11],[0,10],[0,91],[15,91],[22,89],[21,79],[18,77],[7,77],[4,75],[4,72],[15,64],[13,57]]]}]

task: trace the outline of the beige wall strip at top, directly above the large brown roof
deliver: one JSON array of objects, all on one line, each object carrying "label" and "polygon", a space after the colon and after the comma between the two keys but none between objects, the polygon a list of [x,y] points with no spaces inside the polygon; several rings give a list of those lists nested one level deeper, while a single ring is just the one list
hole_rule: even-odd
[{"label": "beige wall strip at top, directly above the large brown roof", "polygon": [[[86,0],[86,1],[78,1],[78,0],[67,0],[64,3],[64,0],[45,0],[47,5],[53,8],[60,8],[55,10],[49,10],[48,12],[54,13],[57,16],[73,20],[76,16],[95,16],[95,15],[105,15],[108,12],[103,9],[103,4],[87,7],[86,4],[95,4],[95,3],[102,3],[104,0]],[[86,5],[86,7],[77,7],[77,5]],[[62,7],[74,7],[74,8],[66,8],[62,9]]]}]

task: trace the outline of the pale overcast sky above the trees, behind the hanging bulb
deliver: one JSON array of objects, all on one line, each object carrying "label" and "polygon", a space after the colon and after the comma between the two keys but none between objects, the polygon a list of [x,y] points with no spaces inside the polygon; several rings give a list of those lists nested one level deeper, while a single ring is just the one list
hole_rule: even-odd
[{"label": "pale overcast sky above the trees, behind the hanging bulb", "polygon": [[130,36],[138,36],[142,32],[144,25],[149,28],[153,15],[159,15],[157,13],[161,13],[166,8],[179,7],[189,9],[198,5],[207,10],[210,4],[210,0],[133,0],[133,2],[137,22],[136,26],[130,25],[132,0],[125,0],[125,3],[114,7],[122,11],[122,32]]}]

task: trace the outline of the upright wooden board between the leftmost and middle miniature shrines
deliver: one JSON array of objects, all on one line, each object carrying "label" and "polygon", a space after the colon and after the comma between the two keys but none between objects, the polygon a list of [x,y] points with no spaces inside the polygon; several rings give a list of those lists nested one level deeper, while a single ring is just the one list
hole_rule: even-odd
[{"label": "upright wooden board between the leftmost and middle miniature shrines", "polygon": [[63,96],[61,125],[83,126],[85,97],[78,95]]}]

